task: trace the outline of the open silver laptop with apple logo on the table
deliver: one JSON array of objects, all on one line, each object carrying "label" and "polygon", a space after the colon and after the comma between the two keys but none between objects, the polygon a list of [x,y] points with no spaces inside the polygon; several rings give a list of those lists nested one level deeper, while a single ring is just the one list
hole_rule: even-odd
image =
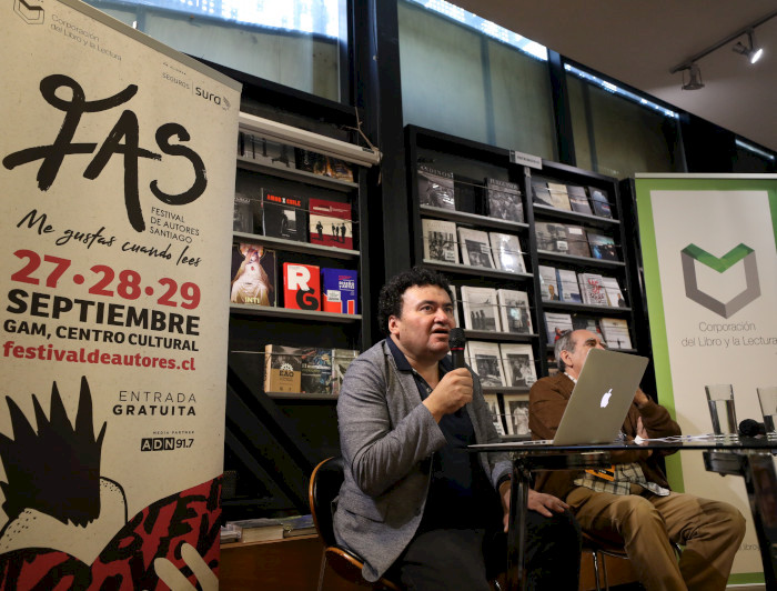
[{"label": "open silver laptop with apple logo on the table", "polygon": [[[647,358],[592,349],[577,378],[553,440],[509,441],[515,445],[612,443],[634,401]],[[497,444],[498,445],[498,444]],[[477,449],[477,445],[470,445]]]}]

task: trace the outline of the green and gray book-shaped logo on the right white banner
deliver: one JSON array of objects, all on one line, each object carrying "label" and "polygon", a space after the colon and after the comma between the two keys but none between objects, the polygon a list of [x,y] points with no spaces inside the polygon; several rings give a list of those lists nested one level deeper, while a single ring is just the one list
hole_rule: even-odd
[{"label": "green and gray book-shaped logo on the right white banner", "polygon": [[[760,296],[756,251],[746,244],[737,244],[720,258],[710,254],[696,244],[688,244],[680,251],[680,259],[683,262],[685,296],[723,318],[730,318]],[[727,302],[723,302],[702,291],[696,278],[697,261],[718,273],[725,273],[741,261],[745,269],[745,288]]]}]

